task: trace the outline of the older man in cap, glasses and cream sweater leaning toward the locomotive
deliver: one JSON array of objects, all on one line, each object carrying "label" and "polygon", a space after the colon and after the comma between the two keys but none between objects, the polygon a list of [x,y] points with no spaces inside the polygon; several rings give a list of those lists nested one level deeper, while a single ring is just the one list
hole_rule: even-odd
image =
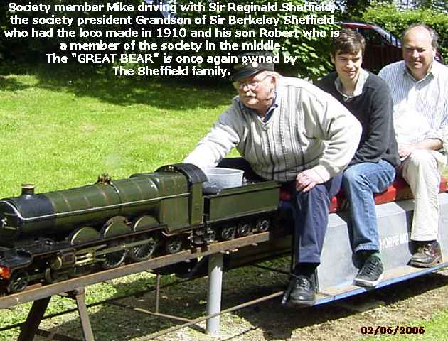
[{"label": "older man in cap, glasses and cream sweater leaning toward the locomotive", "polygon": [[242,158],[234,168],[292,191],[296,240],[289,301],[313,305],[312,274],[320,264],[330,200],[358,147],[361,124],[330,94],[274,72],[269,55],[238,56],[231,77],[238,96],[185,162],[216,166],[237,148]]}]

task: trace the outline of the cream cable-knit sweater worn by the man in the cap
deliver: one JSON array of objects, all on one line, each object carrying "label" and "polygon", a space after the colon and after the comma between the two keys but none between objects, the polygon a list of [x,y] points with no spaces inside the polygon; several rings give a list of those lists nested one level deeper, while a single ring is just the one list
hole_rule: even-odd
[{"label": "cream cable-knit sweater worn by the man in the cap", "polygon": [[326,181],[343,171],[358,148],[358,120],[330,94],[298,78],[279,77],[276,102],[264,123],[234,97],[184,162],[213,167],[235,147],[265,179],[286,182],[312,168]]}]

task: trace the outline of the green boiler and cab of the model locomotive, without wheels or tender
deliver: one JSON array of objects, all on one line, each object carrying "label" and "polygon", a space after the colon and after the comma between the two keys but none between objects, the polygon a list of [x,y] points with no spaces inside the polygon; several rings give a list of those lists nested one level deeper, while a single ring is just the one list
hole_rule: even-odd
[{"label": "green boiler and cab of the model locomotive, without wheels or tender", "polygon": [[0,201],[2,230],[9,234],[6,238],[0,233],[0,243],[64,236],[76,227],[102,226],[117,216],[132,220],[150,215],[168,229],[188,227],[188,187],[181,173],[161,172],[45,194],[23,193]]}]

